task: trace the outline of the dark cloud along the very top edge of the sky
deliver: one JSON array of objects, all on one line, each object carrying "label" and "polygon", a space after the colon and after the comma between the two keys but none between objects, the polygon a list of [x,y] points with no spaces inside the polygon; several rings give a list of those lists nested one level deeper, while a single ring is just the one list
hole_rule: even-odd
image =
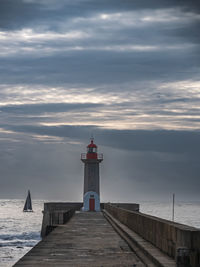
[{"label": "dark cloud along the very top edge of the sky", "polygon": [[53,20],[60,21],[72,17],[86,17],[99,12],[122,12],[130,10],[182,8],[185,12],[199,13],[198,0],[109,0],[109,1],[24,1],[1,0],[0,3],[0,28],[16,29],[29,27],[34,24],[43,25],[48,22],[49,29],[56,29]]}]

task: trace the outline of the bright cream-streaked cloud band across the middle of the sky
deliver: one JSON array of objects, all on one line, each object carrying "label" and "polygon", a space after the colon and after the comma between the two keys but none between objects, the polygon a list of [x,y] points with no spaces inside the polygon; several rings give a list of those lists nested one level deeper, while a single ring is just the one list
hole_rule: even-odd
[{"label": "bright cream-streaked cloud band across the middle of the sky", "polygon": [[199,82],[190,80],[162,85],[143,81],[114,88],[108,84],[97,88],[4,85],[1,124],[198,130],[198,88]]}]

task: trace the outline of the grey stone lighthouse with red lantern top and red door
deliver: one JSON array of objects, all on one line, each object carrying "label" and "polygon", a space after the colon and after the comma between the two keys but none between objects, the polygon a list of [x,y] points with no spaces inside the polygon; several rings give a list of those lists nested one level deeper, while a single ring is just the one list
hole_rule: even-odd
[{"label": "grey stone lighthouse with red lantern top and red door", "polygon": [[83,210],[100,211],[99,163],[103,161],[103,154],[97,153],[94,138],[87,146],[87,153],[81,154],[81,161],[84,163]]}]

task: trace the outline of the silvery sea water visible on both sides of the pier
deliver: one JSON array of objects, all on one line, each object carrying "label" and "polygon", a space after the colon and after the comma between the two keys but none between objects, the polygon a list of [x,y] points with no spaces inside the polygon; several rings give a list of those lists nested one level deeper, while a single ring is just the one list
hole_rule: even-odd
[{"label": "silvery sea water visible on both sides of the pier", "polygon": [[[0,199],[0,267],[13,266],[40,240],[44,200],[33,200],[34,212],[23,212],[24,200]],[[140,211],[167,220],[172,219],[172,204],[160,201],[140,202]],[[176,222],[200,228],[200,201],[177,202]]]}]

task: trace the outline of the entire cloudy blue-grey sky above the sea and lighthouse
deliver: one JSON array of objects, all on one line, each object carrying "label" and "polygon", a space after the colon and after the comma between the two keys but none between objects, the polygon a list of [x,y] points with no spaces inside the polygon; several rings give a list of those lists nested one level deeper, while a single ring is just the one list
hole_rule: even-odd
[{"label": "entire cloudy blue-grey sky above the sea and lighthouse", "polygon": [[200,200],[199,0],[0,0],[0,198]]}]

